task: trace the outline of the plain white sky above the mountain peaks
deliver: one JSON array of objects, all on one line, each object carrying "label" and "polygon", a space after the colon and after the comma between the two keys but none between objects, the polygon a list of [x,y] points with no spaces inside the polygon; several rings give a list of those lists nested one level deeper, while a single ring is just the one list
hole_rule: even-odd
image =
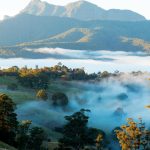
[{"label": "plain white sky above the mountain peaks", "polygon": [[[5,15],[14,16],[21,11],[31,0],[0,0],[0,19]],[[77,0],[41,0],[51,4],[66,5]],[[104,9],[129,9],[150,19],[150,0],[87,0]]]}]

